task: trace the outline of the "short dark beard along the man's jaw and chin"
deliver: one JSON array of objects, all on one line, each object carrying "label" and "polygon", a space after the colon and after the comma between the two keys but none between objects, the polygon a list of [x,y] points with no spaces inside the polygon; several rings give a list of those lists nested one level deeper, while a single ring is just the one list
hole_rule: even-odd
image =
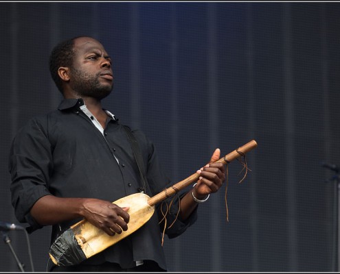
[{"label": "short dark beard along the man's jaw and chin", "polygon": [[70,86],[77,95],[81,97],[93,97],[102,100],[110,95],[113,90],[113,84],[100,84],[100,73],[97,75],[90,75],[78,69],[71,69],[71,83]]}]

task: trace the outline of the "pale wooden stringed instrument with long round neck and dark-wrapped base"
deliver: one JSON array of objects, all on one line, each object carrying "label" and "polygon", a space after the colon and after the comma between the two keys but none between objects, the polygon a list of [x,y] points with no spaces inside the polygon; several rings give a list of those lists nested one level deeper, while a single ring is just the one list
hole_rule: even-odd
[{"label": "pale wooden stringed instrument with long round neck and dark-wrapped base", "polygon": [[[257,145],[255,140],[251,140],[216,162],[229,164],[229,162],[240,158],[242,155],[245,155],[257,147]],[[79,264],[83,260],[111,247],[111,245],[119,242],[144,225],[154,214],[157,203],[171,197],[193,182],[196,182],[199,176],[198,173],[194,173],[153,197],[149,197],[144,193],[135,193],[114,201],[113,203],[117,206],[124,207],[128,205],[130,207],[128,210],[130,221],[126,231],[123,231],[121,234],[109,236],[102,229],[95,227],[84,219],[69,227],[69,229],[56,238],[49,249],[49,258],[58,266],[70,266]]]}]

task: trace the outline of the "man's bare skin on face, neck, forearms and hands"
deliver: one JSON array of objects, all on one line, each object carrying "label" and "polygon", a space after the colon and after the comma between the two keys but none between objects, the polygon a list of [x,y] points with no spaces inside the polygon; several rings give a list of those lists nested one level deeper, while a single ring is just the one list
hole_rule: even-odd
[{"label": "man's bare skin on face, neck, forearms and hands", "polygon": [[[63,96],[82,98],[89,111],[105,128],[108,116],[102,109],[101,100],[113,89],[111,58],[100,42],[93,38],[81,37],[75,40],[75,56],[72,67],[60,67],[58,75],[63,79]],[[225,181],[222,163],[214,163],[220,158],[220,149],[212,154],[210,163],[201,168],[199,181],[181,199],[181,219],[188,219],[198,206],[192,199],[205,199],[218,191]],[[31,209],[34,219],[41,225],[54,225],[63,221],[83,217],[110,236],[121,234],[128,229],[128,207],[120,208],[111,201],[91,198],[60,198],[47,195],[38,199]]]}]

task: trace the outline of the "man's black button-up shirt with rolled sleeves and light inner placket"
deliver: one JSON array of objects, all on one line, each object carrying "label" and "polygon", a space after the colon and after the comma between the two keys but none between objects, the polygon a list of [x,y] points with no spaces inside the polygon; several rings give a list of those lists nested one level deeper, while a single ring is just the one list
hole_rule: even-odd
[{"label": "man's black button-up shirt with rolled sleeves and light inner placket", "polygon": [[[82,105],[82,99],[65,99],[58,110],[30,119],[12,142],[9,161],[12,206],[16,218],[21,223],[28,223],[29,232],[42,227],[32,218],[30,209],[45,195],[113,202],[138,192],[141,187],[139,170],[123,126],[114,117],[107,119],[102,134],[80,110]],[[133,130],[133,134],[146,169],[146,194],[152,197],[168,188],[171,182],[161,171],[152,142],[140,130]],[[163,223],[159,225],[163,216],[159,208],[157,205],[155,214],[136,232],[82,263],[107,261],[131,268],[137,260],[154,260],[166,269],[161,247]],[[168,215],[168,224],[176,218],[177,210],[175,203]],[[195,210],[185,222],[177,219],[170,229],[166,229],[166,234],[169,238],[179,236],[196,218]],[[51,242],[78,221],[80,219],[54,225]]]}]

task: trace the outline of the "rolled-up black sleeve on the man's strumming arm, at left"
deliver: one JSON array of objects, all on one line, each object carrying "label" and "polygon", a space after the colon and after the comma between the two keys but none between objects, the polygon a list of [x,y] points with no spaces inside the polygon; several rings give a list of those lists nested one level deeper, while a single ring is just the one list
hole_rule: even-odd
[{"label": "rolled-up black sleeve on the man's strumming arm, at left", "polygon": [[28,223],[28,232],[41,228],[30,214],[34,203],[45,195],[52,170],[52,147],[47,136],[47,121],[30,120],[16,134],[10,148],[11,201],[16,219]]}]

